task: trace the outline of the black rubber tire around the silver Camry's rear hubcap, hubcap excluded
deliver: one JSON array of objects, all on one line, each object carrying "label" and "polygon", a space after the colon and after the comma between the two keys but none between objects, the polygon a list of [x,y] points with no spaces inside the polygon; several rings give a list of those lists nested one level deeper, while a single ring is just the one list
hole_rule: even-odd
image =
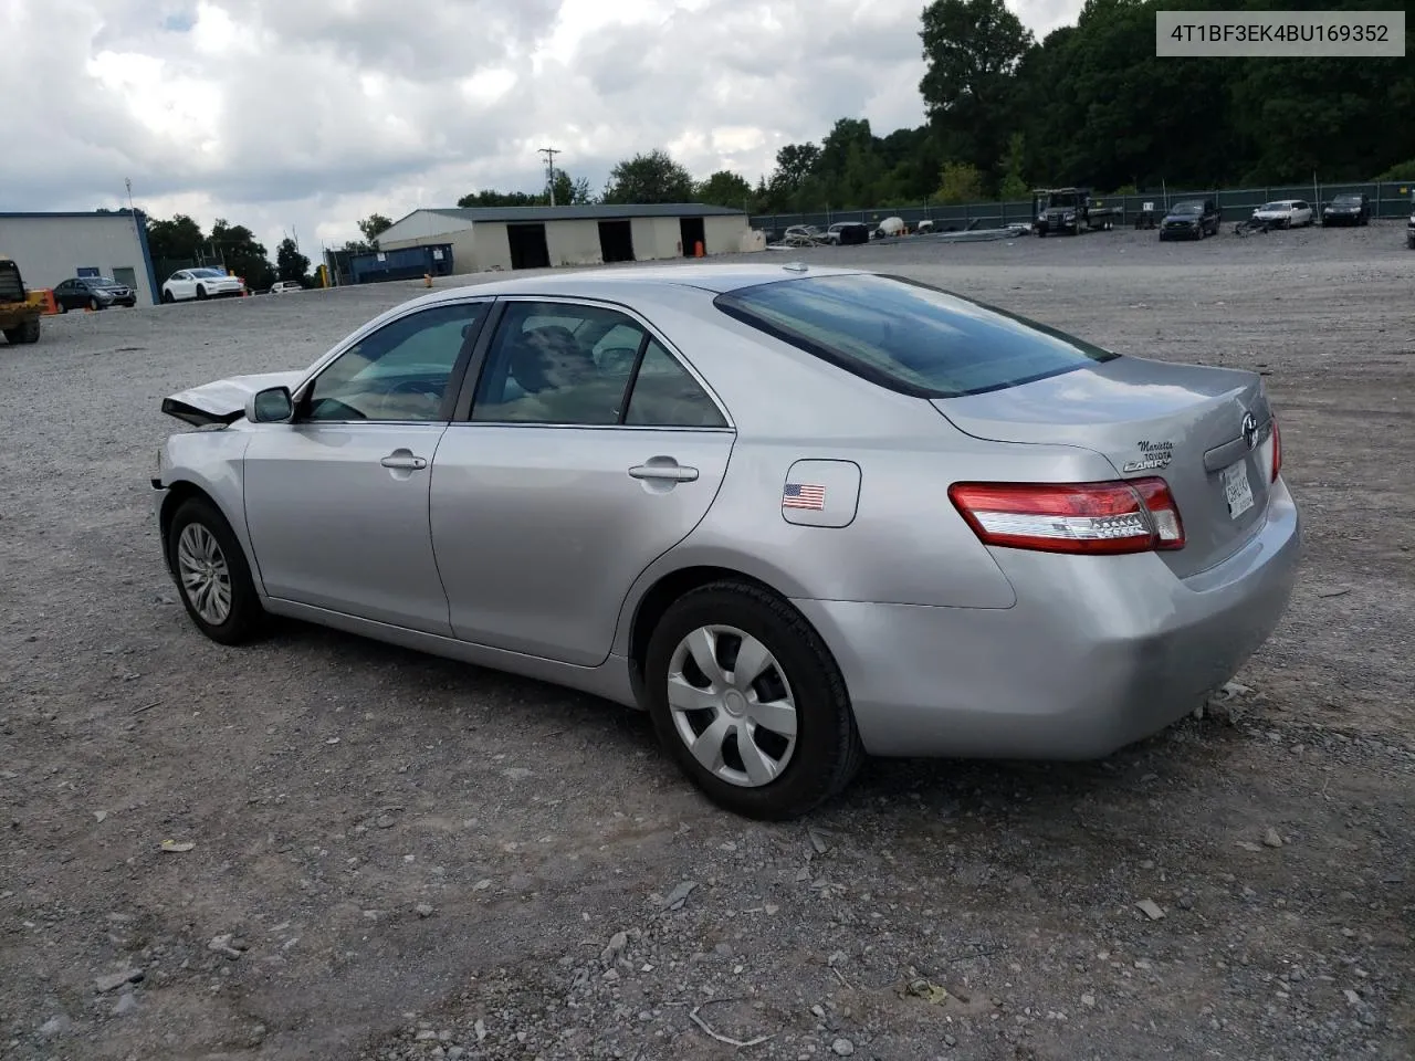
[{"label": "black rubber tire around the silver Camry's rear hubcap, hubcap excluded", "polygon": [[[727,625],[757,638],[775,656],[797,709],[795,747],[781,775],[760,787],[736,785],[705,768],[679,737],[668,705],[668,668],[691,632]],[[780,597],[717,581],[676,600],[658,621],[644,666],[645,699],[665,751],[713,804],[757,821],[799,818],[842,792],[865,763],[845,679],[825,642]]]}]

